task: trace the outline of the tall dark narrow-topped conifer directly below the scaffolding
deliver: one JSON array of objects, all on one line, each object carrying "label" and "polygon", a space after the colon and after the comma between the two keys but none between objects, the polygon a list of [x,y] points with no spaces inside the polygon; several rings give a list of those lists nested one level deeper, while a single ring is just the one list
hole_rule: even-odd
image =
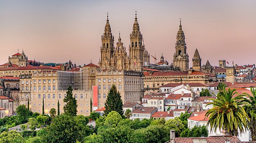
[{"label": "tall dark narrow-topped conifer directly below the scaffolding", "polygon": [[72,94],[72,87],[69,85],[68,91],[67,91],[67,96],[64,98],[64,102],[66,105],[64,105],[64,113],[71,115],[71,116],[76,116],[77,115],[77,100],[76,98],[73,97]]}]

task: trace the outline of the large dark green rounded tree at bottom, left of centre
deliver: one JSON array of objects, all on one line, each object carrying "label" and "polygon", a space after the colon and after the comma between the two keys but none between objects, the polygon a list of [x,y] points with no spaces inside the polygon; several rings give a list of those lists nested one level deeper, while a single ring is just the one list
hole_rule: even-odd
[{"label": "large dark green rounded tree at bottom, left of centre", "polygon": [[52,120],[45,131],[42,139],[47,143],[75,143],[76,140],[82,142],[88,126],[81,124],[74,116],[61,114]]}]

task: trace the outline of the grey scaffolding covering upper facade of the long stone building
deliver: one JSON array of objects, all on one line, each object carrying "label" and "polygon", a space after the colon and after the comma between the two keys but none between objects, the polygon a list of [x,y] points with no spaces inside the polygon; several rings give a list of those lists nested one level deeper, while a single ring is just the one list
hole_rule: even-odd
[{"label": "grey scaffolding covering upper facade of the long stone building", "polygon": [[71,85],[73,90],[82,89],[82,74],[80,71],[57,71],[59,90],[67,90]]}]

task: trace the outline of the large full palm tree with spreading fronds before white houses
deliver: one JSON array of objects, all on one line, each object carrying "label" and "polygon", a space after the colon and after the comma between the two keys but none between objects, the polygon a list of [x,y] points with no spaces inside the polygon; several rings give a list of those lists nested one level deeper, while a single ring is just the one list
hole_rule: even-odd
[{"label": "large full palm tree with spreading fronds before white houses", "polygon": [[244,133],[244,128],[246,128],[248,116],[242,105],[247,104],[245,95],[234,95],[238,94],[236,89],[226,90],[223,86],[223,91],[219,92],[219,95],[212,103],[207,105],[213,105],[213,108],[208,110],[205,114],[209,117],[207,126],[210,125],[211,131],[219,128],[219,130],[227,129],[228,132],[232,132],[234,135],[238,135],[238,130],[240,133]]}]

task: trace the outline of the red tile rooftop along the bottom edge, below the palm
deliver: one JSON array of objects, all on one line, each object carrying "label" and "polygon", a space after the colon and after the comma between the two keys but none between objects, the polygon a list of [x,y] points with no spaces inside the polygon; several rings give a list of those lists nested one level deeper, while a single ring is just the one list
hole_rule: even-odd
[{"label": "red tile rooftop along the bottom edge, below the palm", "polygon": [[[204,138],[174,138],[174,143],[225,143],[226,137],[224,136],[212,136],[212,137],[204,137]],[[238,143],[240,142],[238,137],[227,136],[227,139],[230,140],[230,143]]]}]

